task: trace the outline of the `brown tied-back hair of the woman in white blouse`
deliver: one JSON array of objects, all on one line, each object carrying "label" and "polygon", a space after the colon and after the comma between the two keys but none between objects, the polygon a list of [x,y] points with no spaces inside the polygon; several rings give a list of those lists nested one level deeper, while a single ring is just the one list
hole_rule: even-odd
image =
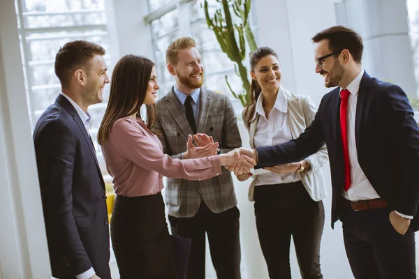
[{"label": "brown tied-back hair of the woman in white blouse", "polygon": [[[263,59],[263,57],[273,55],[277,57],[277,52],[274,52],[272,48],[270,47],[258,47],[257,50],[255,50],[253,53],[250,54],[250,70],[254,72],[256,65],[258,65],[260,59]],[[243,112],[243,121],[246,124],[246,126],[249,128],[250,126],[250,119],[251,116],[255,113],[256,110],[256,102],[258,101],[260,92],[262,92],[262,89],[260,88],[260,85],[256,80],[251,80],[250,84],[250,100],[251,103],[247,105],[246,108],[244,108]]]}]

